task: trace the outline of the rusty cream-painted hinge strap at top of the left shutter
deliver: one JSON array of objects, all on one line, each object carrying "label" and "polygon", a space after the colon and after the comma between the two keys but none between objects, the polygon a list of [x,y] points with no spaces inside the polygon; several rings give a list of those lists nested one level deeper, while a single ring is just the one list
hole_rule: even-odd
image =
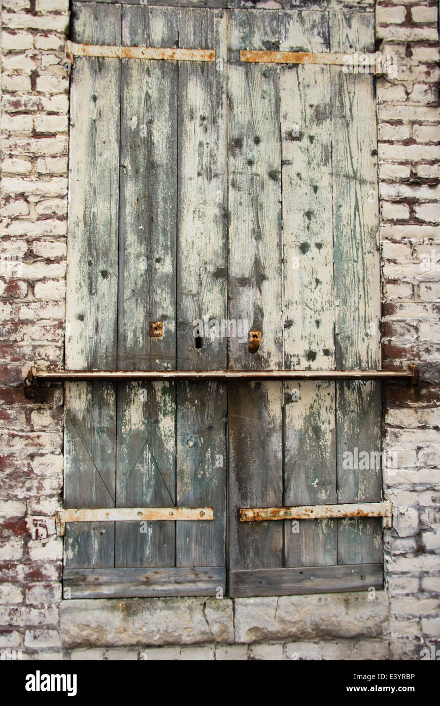
[{"label": "rusty cream-painted hinge strap at top of the left shutter", "polygon": [[104,44],[66,42],[66,58],[106,56],[107,59],[163,59],[165,61],[215,61],[215,49],[178,49],[177,47],[109,47]]}]

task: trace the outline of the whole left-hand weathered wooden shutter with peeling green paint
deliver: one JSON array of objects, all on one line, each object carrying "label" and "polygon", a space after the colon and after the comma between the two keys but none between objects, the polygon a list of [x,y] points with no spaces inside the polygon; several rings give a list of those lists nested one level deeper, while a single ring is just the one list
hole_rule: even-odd
[{"label": "whole left-hand weathered wooden shutter with peeling green paint", "polygon": [[[226,14],[74,3],[73,40],[221,59]],[[193,337],[226,318],[224,63],[75,59],[66,367],[226,368],[225,339]],[[224,591],[226,404],[224,383],[66,385],[66,508],[214,507],[213,522],[68,524],[69,597]]]}]

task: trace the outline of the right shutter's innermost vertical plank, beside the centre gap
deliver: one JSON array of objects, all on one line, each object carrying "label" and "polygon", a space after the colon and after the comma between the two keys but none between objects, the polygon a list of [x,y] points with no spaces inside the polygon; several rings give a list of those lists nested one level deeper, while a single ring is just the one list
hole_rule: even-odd
[{"label": "right shutter's innermost vertical plank, beside the centre gap", "polygon": [[[228,48],[276,49],[278,13],[231,11]],[[229,318],[262,345],[229,341],[231,369],[278,368],[282,356],[279,68],[228,65]],[[282,566],[283,527],[239,522],[240,507],[283,501],[281,383],[234,383],[228,394],[229,568]]]}]

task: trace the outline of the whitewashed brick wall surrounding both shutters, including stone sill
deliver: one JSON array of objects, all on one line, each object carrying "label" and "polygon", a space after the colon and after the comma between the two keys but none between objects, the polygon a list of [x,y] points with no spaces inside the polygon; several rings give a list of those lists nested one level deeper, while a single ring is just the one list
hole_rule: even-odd
[{"label": "whitewashed brick wall surrounding both shutters, including stone sill", "polygon": [[[54,510],[61,503],[63,395],[61,388],[52,387],[37,402],[25,400],[20,385],[30,363],[63,365],[68,151],[63,43],[68,1],[3,0],[3,655],[17,649],[28,659],[152,659],[154,654],[162,659],[420,659],[420,650],[440,642],[438,6],[432,0],[384,0],[376,11],[377,49],[398,56],[396,78],[377,80],[384,364],[415,362],[422,372],[420,388],[384,387],[384,449],[398,454],[398,469],[384,472],[386,496],[395,506],[393,530],[385,539],[386,592],[378,592],[371,602],[362,594],[329,594],[319,603],[317,597],[285,598],[279,604],[276,599],[254,599],[252,611],[246,599],[239,599],[235,616],[228,599],[221,610],[212,599],[183,599],[182,608],[192,611],[191,626],[200,617],[193,646],[159,647],[170,644],[167,637],[142,647],[141,638],[130,634],[116,643],[110,629],[107,642],[97,645],[93,632],[84,630],[78,642],[63,629],[63,651],[62,546],[54,531]],[[438,267],[440,271],[440,263]],[[342,599],[350,628],[341,622]],[[176,615],[173,602],[165,602],[165,608],[160,602],[158,612],[159,604],[145,599],[145,625],[160,624],[165,609]],[[83,603],[63,602],[70,626],[75,620],[80,623],[87,608]],[[102,621],[109,618],[109,626],[120,628],[114,602],[100,604]],[[302,630],[299,616],[307,610],[321,611],[324,634],[310,631],[310,626]],[[183,635],[185,623],[180,627]],[[234,640],[238,644],[224,645]]]}]

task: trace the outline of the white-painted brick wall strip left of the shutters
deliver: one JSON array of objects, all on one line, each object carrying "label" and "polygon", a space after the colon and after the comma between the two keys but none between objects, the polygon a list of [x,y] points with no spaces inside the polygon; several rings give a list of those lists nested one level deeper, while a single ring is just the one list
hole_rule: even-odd
[{"label": "white-painted brick wall strip left of the shutters", "polygon": [[[0,650],[59,647],[61,388],[23,396],[29,361],[63,365],[68,0],[1,13]],[[11,256],[11,257],[8,257]]]}]

